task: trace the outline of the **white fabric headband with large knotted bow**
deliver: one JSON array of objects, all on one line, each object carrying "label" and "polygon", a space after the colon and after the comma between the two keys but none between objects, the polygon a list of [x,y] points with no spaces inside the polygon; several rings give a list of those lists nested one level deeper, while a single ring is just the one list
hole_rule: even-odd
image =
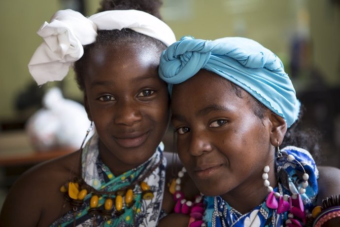
[{"label": "white fabric headband with large knotted bow", "polygon": [[71,9],[59,10],[37,32],[44,42],[35,50],[29,71],[38,85],[62,80],[71,64],[83,56],[83,45],[96,40],[98,30],[123,28],[156,38],[167,46],[176,41],[166,23],[143,11],[110,10],[87,18]]}]

